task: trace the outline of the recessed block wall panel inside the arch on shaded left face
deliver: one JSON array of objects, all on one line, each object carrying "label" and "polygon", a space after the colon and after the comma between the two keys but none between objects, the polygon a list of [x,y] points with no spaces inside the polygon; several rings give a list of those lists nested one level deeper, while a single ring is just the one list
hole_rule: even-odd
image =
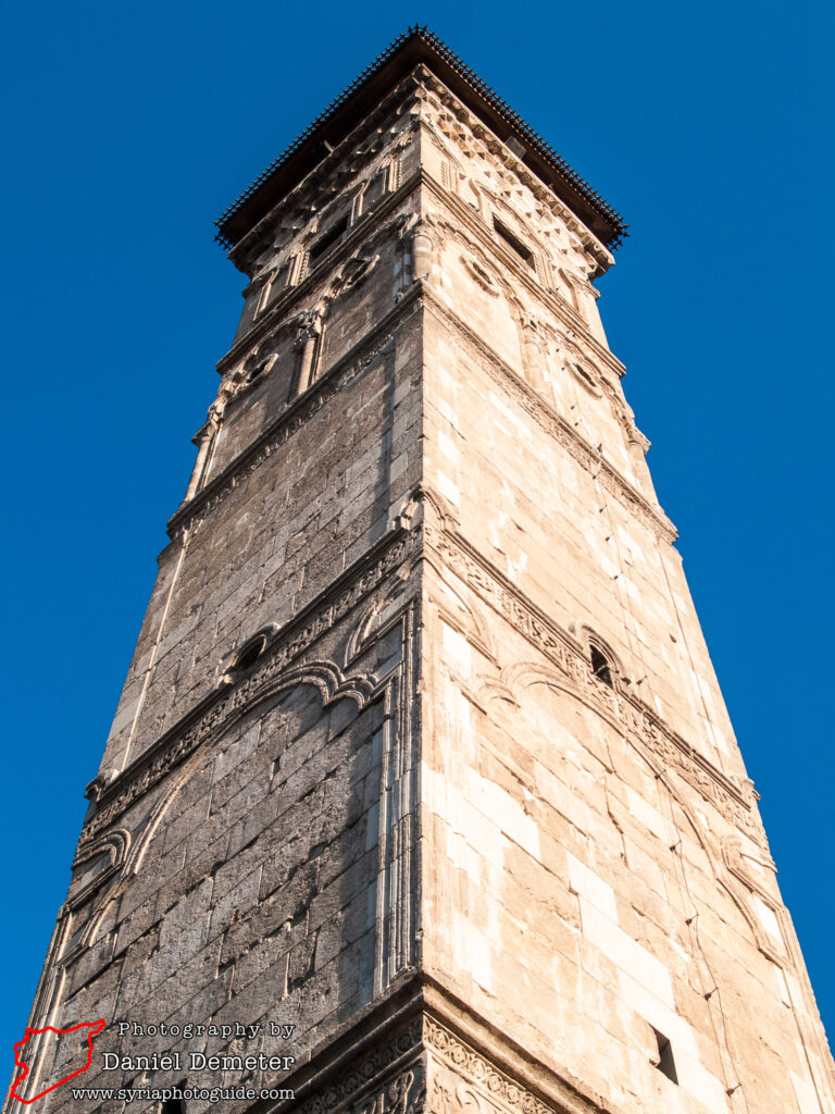
[{"label": "recessed block wall panel inside the arch on shaded left face", "polygon": [[[235,970],[262,971],[279,1000],[310,991],[322,968],[324,1003],[325,984],[374,955],[384,742],[371,696],[328,663],[298,666],[163,784],[90,920],[107,922],[112,958],[131,969],[145,949],[137,977],[166,980],[171,1013],[196,993],[219,1008]],[[373,974],[340,996],[370,1000]]]}]

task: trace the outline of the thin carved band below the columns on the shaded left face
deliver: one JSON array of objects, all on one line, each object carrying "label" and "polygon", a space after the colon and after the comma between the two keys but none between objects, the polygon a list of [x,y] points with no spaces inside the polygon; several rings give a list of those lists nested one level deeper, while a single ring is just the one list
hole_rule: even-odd
[{"label": "thin carved band below the columns on the shaded left face", "polygon": [[291,403],[247,449],[206,487],[185,502],[168,521],[168,536],[191,529],[219,506],[240,482],[299,430],[338,391],[353,383],[393,341],[394,326],[414,309],[419,286],[404,292],[397,304],[337,361],[308,391]]}]

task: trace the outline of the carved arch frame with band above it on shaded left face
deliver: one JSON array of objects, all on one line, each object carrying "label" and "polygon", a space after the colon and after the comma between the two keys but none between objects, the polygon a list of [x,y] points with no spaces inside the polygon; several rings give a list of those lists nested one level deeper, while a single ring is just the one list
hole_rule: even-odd
[{"label": "carved arch frame with band above it on shaded left face", "polygon": [[[377,981],[385,988],[412,962],[411,909],[414,823],[415,755],[410,698],[415,685],[415,604],[403,593],[404,580],[396,577],[394,590],[389,576],[411,563],[419,551],[420,524],[410,530],[397,526],[334,588],[312,606],[305,616],[276,632],[259,632],[263,653],[245,671],[224,675],[218,687],[189,716],[171,729],[159,744],[107,784],[97,785],[97,810],[88,819],[76,860],[81,871],[76,891],[70,891],[56,926],[32,1018],[41,1024],[60,1007],[72,985],[73,965],[87,949],[96,948],[94,962],[112,957],[118,946],[116,911],[131,880],[147,864],[148,850],[165,818],[176,807],[186,783],[218,747],[220,740],[243,720],[283,692],[308,685],[316,690],[322,707],[353,701],[358,710],[383,701],[383,761],[390,776],[381,786],[377,846],[380,882],[377,893]],[[411,565],[410,565],[411,567]],[[387,583],[386,583],[387,582]],[[375,628],[373,603],[361,612],[356,649],[370,648],[375,639],[395,625],[402,627],[400,661],[384,676],[357,668],[348,661],[341,666],[332,657],[298,659],[298,655],[341,622],[363,597],[383,587],[383,608],[391,608],[382,628]],[[399,599],[399,593],[403,599]],[[363,618],[370,623],[363,623]],[[301,624],[301,625],[299,625]],[[354,626],[354,629],[356,625]],[[348,639],[352,631],[347,632]],[[341,638],[344,637],[341,636]],[[364,639],[364,641],[363,641]],[[249,639],[252,642],[252,638]],[[296,659],[294,659],[296,658]],[[376,663],[375,663],[376,664]],[[150,811],[138,822],[109,828],[140,799]],[[136,813],[132,813],[136,815]],[[86,838],[85,838],[86,837]],[[87,863],[100,862],[94,878],[84,877]]]}]

